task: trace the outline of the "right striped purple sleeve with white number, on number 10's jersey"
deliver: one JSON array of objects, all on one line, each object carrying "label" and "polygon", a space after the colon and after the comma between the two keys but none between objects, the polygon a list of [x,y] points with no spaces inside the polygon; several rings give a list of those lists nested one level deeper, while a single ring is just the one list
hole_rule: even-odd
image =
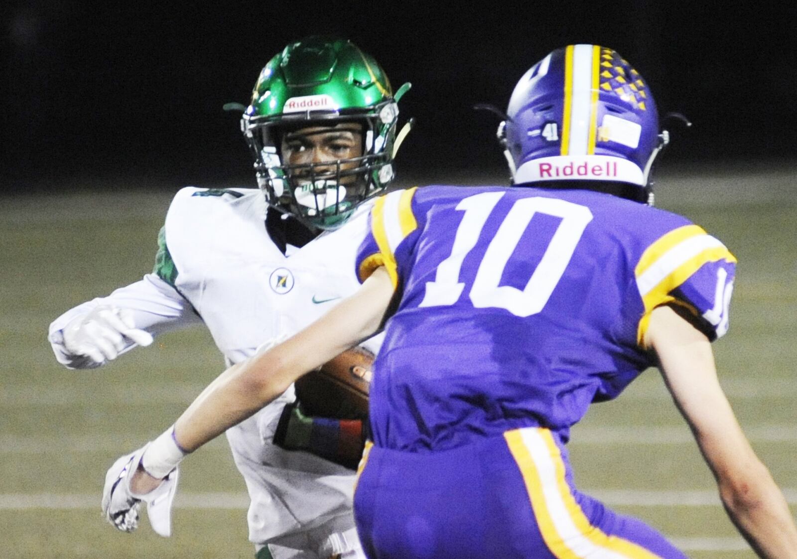
[{"label": "right striped purple sleeve with white number, on number 10's jersey", "polygon": [[645,250],[634,273],[645,306],[639,341],[653,309],[667,304],[688,309],[693,324],[709,340],[728,331],[736,258],[699,226],[682,226],[663,235]]}]

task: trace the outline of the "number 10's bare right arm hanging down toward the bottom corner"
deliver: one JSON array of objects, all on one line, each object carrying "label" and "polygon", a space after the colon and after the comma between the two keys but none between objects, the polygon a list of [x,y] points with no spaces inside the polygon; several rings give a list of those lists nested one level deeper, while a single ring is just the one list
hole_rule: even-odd
[{"label": "number 10's bare right arm hanging down toward the bottom corner", "polygon": [[732,522],[759,557],[797,557],[797,528],[783,494],[750,447],[720,388],[709,340],[669,307],[645,337],[711,468]]}]

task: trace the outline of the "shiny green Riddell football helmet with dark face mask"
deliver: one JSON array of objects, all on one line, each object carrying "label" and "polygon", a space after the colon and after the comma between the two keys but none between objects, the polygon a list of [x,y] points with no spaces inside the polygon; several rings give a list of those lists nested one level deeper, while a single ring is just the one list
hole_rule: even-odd
[{"label": "shiny green Riddell football helmet with dark face mask", "polygon": [[[314,36],[286,46],[262,69],[241,118],[269,205],[308,226],[334,229],[385,191],[400,144],[397,101],[409,87],[394,95],[383,69],[351,41]],[[292,165],[282,157],[286,132],[344,123],[362,125],[359,157]]]}]

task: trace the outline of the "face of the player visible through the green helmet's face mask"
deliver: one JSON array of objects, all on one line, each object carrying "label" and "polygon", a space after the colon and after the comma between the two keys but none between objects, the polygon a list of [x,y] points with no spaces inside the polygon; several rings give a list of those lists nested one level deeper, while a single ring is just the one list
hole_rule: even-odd
[{"label": "face of the player visible through the green helmet's face mask", "polygon": [[[349,122],[335,126],[309,126],[285,132],[282,137],[281,152],[287,165],[313,164],[316,178],[336,174],[336,162],[363,155],[363,126]],[[357,167],[357,163],[340,163],[340,170]],[[299,175],[309,175],[309,167]],[[319,176],[321,175],[321,176]],[[357,177],[343,176],[341,183],[349,183]]]}]

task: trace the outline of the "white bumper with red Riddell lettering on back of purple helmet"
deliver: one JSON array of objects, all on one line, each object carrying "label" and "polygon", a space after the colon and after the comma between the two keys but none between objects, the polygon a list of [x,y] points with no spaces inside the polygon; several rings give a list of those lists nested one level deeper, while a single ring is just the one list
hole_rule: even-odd
[{"label": "white bumper with red Riddell lettering on back of purple helmet", "polygon": [[520,165],[515,183],[545,180],[612,180],[642,184],[642,169],[627,159],[608,155],[556,155]]}]

